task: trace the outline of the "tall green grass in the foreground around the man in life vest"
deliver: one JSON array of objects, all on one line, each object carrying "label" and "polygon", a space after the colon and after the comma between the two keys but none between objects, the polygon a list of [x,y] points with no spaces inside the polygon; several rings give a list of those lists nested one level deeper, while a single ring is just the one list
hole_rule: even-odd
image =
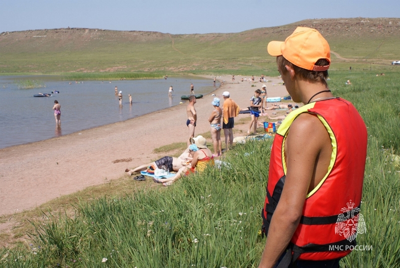
[{"label": "tall green grass in the foreground around the man in life vest", "polygon": [[[344,85],[347,79],[352,85]],[[342,267],[400,265],[400,179],[390,158],[400,153],[399,82],[396,72],[330,72],[333,94],[352,101],[368,127],[361,205],[367,231],[357,244],[372,250],[353,251]],[[46,212],[48,220],[32,222],[32,245],[2,249],[0,266],[256,267],[265,242],[257,232],[270,145],[238,144],[223,158],[230,167],[208,168],[168,188],[83,198],[74,213]]]}]

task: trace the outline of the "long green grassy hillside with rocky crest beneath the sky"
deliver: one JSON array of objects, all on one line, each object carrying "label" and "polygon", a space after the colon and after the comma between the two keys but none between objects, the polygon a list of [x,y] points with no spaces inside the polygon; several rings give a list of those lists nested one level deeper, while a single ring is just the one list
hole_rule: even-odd
[{"label": "long green grassy hillside with rocky crest beneath the sky", "polygon": [[238,33],[168,34],[86,28],[0,33],[0,73],[191,72],[273,74],[270,40],[296,26],[318,29],[338,55],[332,68],[390,66],[400,60],[400,18],[302,20]]}]

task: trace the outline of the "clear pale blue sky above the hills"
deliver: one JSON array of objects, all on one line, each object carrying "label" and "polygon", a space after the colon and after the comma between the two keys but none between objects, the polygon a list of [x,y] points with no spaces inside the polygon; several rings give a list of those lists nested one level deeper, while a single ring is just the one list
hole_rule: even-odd
[{"label": "clear pale blue sky above the hills", "polygon": [[239,32],[307,18],[400,17],[400,0],[0,0],[0,32]]}]

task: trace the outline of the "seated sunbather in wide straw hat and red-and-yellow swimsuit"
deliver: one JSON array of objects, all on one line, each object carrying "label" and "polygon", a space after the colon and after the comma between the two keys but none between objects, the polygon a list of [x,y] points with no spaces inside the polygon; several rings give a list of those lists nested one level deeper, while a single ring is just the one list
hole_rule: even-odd
[{"label": "seated sunbather in wide straw hat and red-and-yellow swimsuit", "polygon": [[207,148],[206,140],[202,136],[191,138],[198,150],[193,154],[193,158],[190,163],[182,166],[176,175],[171,178],[153,178],[155,182],[163,182],[162,185],[168,186],[179,179],[182,175],[187,176],[190,173],[201,172],[205,169],[208,164],[214,165],[214,158],[212,157],[212,151]]}]

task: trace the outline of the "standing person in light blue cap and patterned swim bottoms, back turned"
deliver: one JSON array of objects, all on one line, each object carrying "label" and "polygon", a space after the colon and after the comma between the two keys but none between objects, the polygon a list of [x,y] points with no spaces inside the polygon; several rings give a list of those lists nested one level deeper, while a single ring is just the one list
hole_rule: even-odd
[{"label": "standing person in light blue cap and patterned swim bottoms, back turned", "polygon": [[212,145],[214,147],[213,157],[221,155],[222,151],[222,142],[221,142],[221,118],[222,118],[222,109],[219,107],[219,98],[214,97],[211,104],[214,106],[214,110],[211,112],[208,117],[208,122],[211,126],[211,138]]}]

